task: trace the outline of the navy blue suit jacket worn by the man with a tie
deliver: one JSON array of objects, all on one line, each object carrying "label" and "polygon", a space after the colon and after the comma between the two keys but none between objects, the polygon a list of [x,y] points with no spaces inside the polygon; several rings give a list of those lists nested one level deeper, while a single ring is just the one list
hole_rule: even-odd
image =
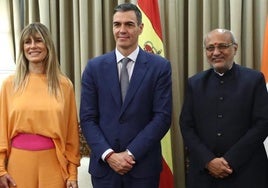
[{"label": "navy blue suit jacket worn by the man with a tie", "polygon": [[170,62],[140,49],[122,104],[112,51],[89,60],[81,92],[81,128],[92,152],[89,172],[102,177],[111,170],[101,156],[112,148],[115,152],[128,149],[134,155],[132,176],[160,173],[160,141],[171,123]]}]

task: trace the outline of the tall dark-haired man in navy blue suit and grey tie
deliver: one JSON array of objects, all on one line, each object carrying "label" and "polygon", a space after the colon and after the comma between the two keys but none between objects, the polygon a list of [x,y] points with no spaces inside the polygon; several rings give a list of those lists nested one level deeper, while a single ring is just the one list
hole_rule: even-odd
[{"label": "tall dark-haired man in navy blue suit and grey tie", "polygon": [[[91,149],[94,188],[158,188],[161,139],[171,124],[171,66],[138,46],[140,10],[121,4],[113,15],[116,49],[89,60],[82,76],[80,120]],[[123,58],[129,86],[121,99]]]}]

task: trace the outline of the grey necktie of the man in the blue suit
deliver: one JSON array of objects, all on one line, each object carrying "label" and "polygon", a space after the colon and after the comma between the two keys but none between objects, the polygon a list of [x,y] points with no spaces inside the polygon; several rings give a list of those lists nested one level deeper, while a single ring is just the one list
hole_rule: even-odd
[{"label": "grey necktie of the man in the blue suit", "polygon": [[120,85],[121,85],[121,96],[122,101],[124,102],[128,85],[129,85],[129,77],[128,77],[128,71],[127,71],[127,64],[129,62],[128,58],[124,58],[122,60],[122,68],[120,73]]}]

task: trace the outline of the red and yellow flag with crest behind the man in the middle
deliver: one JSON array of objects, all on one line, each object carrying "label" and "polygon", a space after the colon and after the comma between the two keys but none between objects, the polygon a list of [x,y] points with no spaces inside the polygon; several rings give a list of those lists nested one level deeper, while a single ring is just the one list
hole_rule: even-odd
[{"label": "red and yellow flag with crest behind the man in the middle", "polygon": [[[138,0],[137,6],[142,12],[144,23],[143,33],[139,38],[139,45],[145,51],[165,56],[162,42],[162,29],[157,0]],[[171,152],[170,131],[161,140],[163,170],[160,175],[159,188],[173,188],[173,164]]]}]

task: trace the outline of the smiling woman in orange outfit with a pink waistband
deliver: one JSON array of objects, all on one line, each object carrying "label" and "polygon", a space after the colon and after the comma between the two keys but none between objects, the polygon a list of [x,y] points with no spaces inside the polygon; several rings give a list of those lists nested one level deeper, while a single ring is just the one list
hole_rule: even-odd
[{"label": "smiling woman in orange outfit with a pink waistband", "polygon": [[16,66],[0,92],[0,188],[77,188],[73,85],[43,24],[22,31]]}]

